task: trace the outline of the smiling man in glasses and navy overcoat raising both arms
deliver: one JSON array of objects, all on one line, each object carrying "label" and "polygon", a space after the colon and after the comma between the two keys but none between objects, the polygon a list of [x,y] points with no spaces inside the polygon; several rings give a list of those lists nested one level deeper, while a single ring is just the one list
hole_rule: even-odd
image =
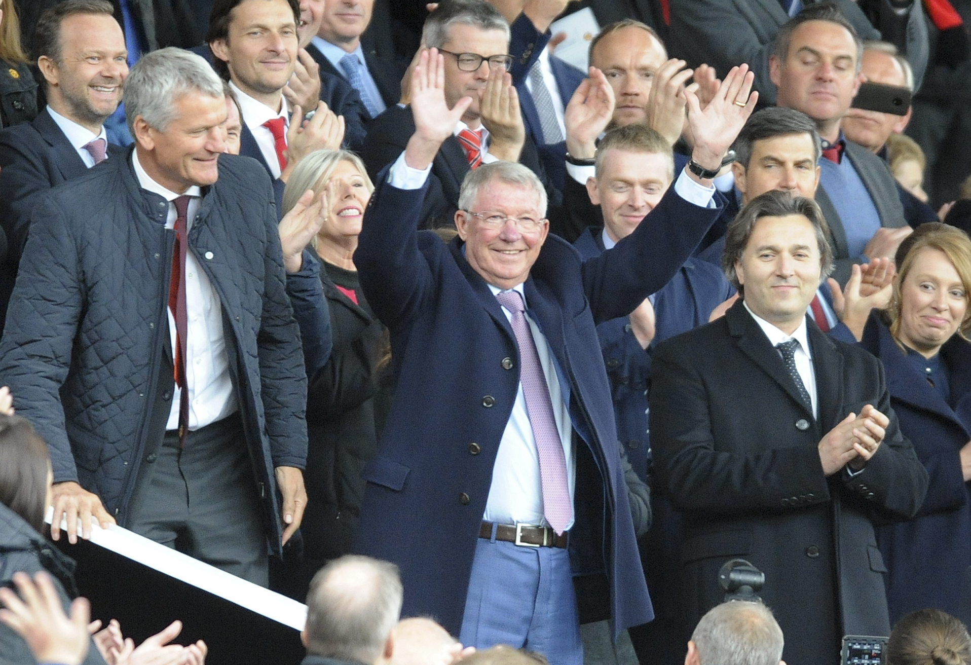
[{"label": "smiling man in glasses and navy overcoat raising both arms", "polygon": [[706,171],[757,95],[742,71],[704,112],[694,99],[696,170],[658,203],[658,223],[598,257],[549,235],[542,183],[508,162],[466,178],[446,246],[417,231],[421,203],[473,100],[448,101],[436,55],[421,55],[416,131],[378,177],[354,254],[398,379],[355,547],[401,567],[405,614],[435,615],[464,644],[580,663],[575,575],[610,589],[615,631],[652,616],[594,326],[667,283],[719,215]]}]

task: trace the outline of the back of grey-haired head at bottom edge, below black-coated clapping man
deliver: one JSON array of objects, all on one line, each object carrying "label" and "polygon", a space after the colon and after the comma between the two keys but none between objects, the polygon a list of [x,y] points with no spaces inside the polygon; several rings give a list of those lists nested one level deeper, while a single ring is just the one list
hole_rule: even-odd
[{"label": "back of grey-haired head at bottom edge, below black-coated clapping man", "polygon": [[701,617],[685,665],[786,665],[783,630],[761,603],[731,601]]}]

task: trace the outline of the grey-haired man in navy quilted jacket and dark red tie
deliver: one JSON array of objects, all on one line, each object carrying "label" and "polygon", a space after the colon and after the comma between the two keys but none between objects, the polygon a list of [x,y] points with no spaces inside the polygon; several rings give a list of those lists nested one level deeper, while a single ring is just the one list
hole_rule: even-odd
[{"label": "grey-haired man in navy quilted jacket and dark red tie", "polygon": [[124,102],[135,146],[34,209],[0,383],[50,447],[55,539],[117,520],[265,585],[307,454],[273,189],[222,154],[199,56],[145,55]]}]

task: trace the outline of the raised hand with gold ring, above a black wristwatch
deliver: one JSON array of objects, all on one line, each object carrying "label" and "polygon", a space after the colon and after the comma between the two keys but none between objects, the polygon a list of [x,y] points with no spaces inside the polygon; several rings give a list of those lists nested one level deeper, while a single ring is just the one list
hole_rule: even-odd
[{"label": "raised hand with gold ring, above a black wristwatch", "polygon": [[[746,120],[752,116],[758,101],[758,92],[752,89],[754,78],[748,65],[732,67],[704,111],[701,110],[701,102],[694,91],[685,89],[687,121],[694,137],[691,158],[704,168],[720,169],[721,158],[731,147]],[[687,173],[693,180],[700,182],[693,173]],[[711,181],[705,181],[705,184],[709,183]]]}]

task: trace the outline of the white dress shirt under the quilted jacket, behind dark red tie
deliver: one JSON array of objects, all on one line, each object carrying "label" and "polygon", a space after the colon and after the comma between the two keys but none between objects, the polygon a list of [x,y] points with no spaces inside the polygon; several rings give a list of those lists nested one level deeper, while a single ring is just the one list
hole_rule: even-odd
[{"label": "white dress shirt under the quilted jacket, behind dark red tie", "polygon": [[[181,194],[166,189],[151,179],[141,162],[138,150],[132,152],[135,175],[143,189],[164,197],[169,201],[169,216],[165,228],[175,228],[175,201]],[[199,187],[189,187],[185,192],[192,196],[185,215],[186,230],[199,211],[201,191]],[[229,356],[222,333],[222,306],[219,296],[206,273],[199,266],[192,249],[185,257],[185,311],[188,316],[188,339],[185,341],[185,382],[188,387],[188,428],[196,430],[221,420],[237,411],[238,404],[233,383],[229,377]],[[172,341],[172,357],[176,355],[177,332],[176,318],[172,310],[169,315],[169,338]],[[178,384],[172,391],[172,408],[165,429],[179,428],[179,408],[182,388]]]}]

